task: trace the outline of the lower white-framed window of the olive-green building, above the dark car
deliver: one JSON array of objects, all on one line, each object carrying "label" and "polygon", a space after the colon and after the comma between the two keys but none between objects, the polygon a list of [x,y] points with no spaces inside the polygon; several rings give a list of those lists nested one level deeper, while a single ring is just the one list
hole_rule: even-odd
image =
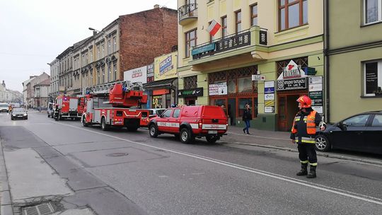
[{"label": "lower white-framed window of the olive-green building, above the dark car", "polygon": [[364,95],[382,93],[382,61],[367,62],[364,66]]}]

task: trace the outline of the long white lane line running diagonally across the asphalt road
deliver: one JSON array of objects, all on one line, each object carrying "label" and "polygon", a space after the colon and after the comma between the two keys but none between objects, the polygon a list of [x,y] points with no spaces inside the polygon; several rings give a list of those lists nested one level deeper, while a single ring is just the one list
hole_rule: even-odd
[{"label": "long white lane line running diagonally across the asphalt road", "polygon": [[317,190],[323,190],[325,192],[331,192],[331,193],[334,193],[334,194],[339,194],[339,195],[342,195],[342,196],[345,196],[345,197],[350,197],[350,198],[353,198],[353,199],[359,199],[359,200],[362,200],[364,202],[371,202],[371,203],[374,203],[374,204],[382,205],[382,199],[378,199],[376,197],[367,196],[367,195],[364,195],[364,194],[357,194],[357,193],[354,193],[354,192],[349,192],[347,190],[340,190],[338,188],[328,187],[328,186],[325,186],[325,185],[319,185],[318,186],[317,184],[313,184],[311,182],[306,182],[304,180],[299,180],[299,179],[296,179],[296,178],[289,178],[289,177],[284,176],[284,175],[277,175],[277,174],[266,172],[266,171],[263,171],[263,170],[257,170],[257,169],[254,169],[254,168],[248,168],[248,167],[245,167],[243,165],[238,165],[238,164],[235,164],[235,163],[229,163],[229,162],[226,162],[226,161],[220,161],[220,160],[216,160],[214,158],[208,158],[208,157],[204,157],[204,156],[199,156],[199,155],[195,155],[195,154],[192,154],[192,153],[186,153],[186,152],[183,152],[183,151],[175,151],[173,149],[165,149],[165,148],[161,148],[161,147],[158,147],[158,146],[151,146],[151,145],[148,145],[148,144],[142,144],[142,143],[139,143],[137,141],[131,141],[131,140],[128,140],[128,139],[123,139],[123,138],[120,138],[120,137],[117,137],[117,136],[112,136],[112,135],[109,135],[109,134],[103,134],[103,133],[100,133],[100,132],[95,132],[95,131],[91,131],[91,130],[88,130],[88,129],[83,129],[81,127],[76,127],[76,126],[69,125],[69,124],[63,124],[63,123],[59,123],[59,122],[53,122],[53,123],[62,124],[62,125],[67,126],[67,127],[74,127],[76,129],[81,129],[81,130],[84,130],[86,132],[92,132],[92,133],[100,134],[100,135],[103,135],[103,136],[109,136],[109,137],[112,137],[112,138],[115,138],[115,139],[120,139],[122,141],[130,142],[132,144],[138,144],[138,145],[141,145],[141,146],[146,146],[146,147],[150,147],[150,148],[154,148],[154,149],[161,149],[161,150],[165,150],[165,151],[170,151],[172,153],[177,153],[177,154],[180,154],[180,155],[183,155],[183,156],[188,156],[188,157],[191,157],[191,158],[197,158],[197,159],[202,160],[202,161],[208,161],[208,162],[211,162],[211,163],[217,163],[217,164],[220,164],[220,165],[225,165],[225,166],[228,166],[228,167],[231,167],[231,168],[236,168],[238,170],[244,170],[244,171],[249,172],[249,173],[255,173],[255,174],[258,174],[258,175],[264,175],[264,176],[267,176],[267,177],[270,177],[270,178],[274,178],[274,179],[278,179],[278,180],[284,180],[286,182],[291,182],[291,183],[294,183],[294,184],[297,184],[297,185],[302,185],[302,186],[305,186],[305,187],[311,187],[311,188],[314,188],[314,189],[317,189]]}]

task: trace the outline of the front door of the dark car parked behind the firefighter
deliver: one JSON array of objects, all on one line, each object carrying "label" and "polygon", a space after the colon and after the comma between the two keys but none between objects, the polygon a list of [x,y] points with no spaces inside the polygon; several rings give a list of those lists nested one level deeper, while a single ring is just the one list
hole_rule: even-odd
[{"label": "front door of the dark car parked behind the firefighter", "polygon": [[361,150],[365,142],[364,131],[370,115],[357,115],[342,121],[342,127],[330,132],[332,146],[340,149]]}]

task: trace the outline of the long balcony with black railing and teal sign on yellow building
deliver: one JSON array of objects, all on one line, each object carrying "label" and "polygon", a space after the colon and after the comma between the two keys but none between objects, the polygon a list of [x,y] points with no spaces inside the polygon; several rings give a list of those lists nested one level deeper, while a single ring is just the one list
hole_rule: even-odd
[{"label": "long balcony with black railing and teal sign on yellow building", "polygon": [[248,30],[197,45],[192,48],[193,66],[230,60],[248,62],[268,59],[267,30],[253,26]]}]

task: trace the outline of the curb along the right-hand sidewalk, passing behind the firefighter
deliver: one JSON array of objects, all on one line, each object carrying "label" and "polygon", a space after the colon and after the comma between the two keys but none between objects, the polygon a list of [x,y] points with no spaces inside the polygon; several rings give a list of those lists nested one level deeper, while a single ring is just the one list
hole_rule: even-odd
[{"label": "curb along the right-hand sidewalk, passing behind the firefighter", "polygon": [[[246,146],[257,146],[257,147],[262,147],[262,148],[268,148],[268,149],[278,149],[282,151],[292,151],[292,152],[299,152],[296,149],[291,149],[291,148],[284,148],[284,147],[279,147],[279,146],[269,146],[269,145],[260,145],[260,144],[245,144],[241,142],[225,142],[228,144],[240,144],[240,145],[246,145]],[[322,152],[317,152],[317,156],[321,157],[326,157],[326,158],[337,158],[337,159],[342,159],[342,160],[347,160],[347,161],[357,161],[357,162],[362,162],[362,163],[370,163],[374,165],[382,165],[382,161],[371,161],[365,158],[353,158],[349,156],[339,156],[339,155],[332,155],[328,153],[322,153]]]}]

